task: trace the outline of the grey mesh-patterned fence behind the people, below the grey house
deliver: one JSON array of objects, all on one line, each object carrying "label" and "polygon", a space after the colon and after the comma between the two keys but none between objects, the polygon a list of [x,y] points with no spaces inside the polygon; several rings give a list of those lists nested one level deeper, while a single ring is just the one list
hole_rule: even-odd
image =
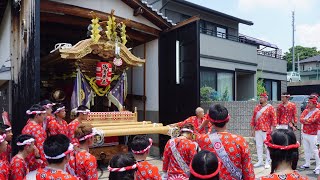
[{"label": "grey mesh-patterned fence behind the people, below the grey house", "polygon": [[[274,108],[277,108],[278,105],[281,102],[270,102],[271,105],[273,105]],[[214,102],[201,102],[201,107],[207,112],[211,105],[213,104],[222,104],[225,106],[229,114],[231,116],[231,120],[229,121],[227,128],[228,131],[234,134],[238,134],[244,137],[250,137],[251,136],[251,127],[250,122],[253,115],[253,109],[257,105],[256,101],[232,101],[232,102],[226,102],[226,101],[214,101]],[[297,114],[298,117],[300,117],[301,113],[301,104],[296,103],[297,106]],[[298,128],[301,129],[301,125],[298,122]],[[295,132],[297,139],[300,140],[301,133],[300,131]]]}]

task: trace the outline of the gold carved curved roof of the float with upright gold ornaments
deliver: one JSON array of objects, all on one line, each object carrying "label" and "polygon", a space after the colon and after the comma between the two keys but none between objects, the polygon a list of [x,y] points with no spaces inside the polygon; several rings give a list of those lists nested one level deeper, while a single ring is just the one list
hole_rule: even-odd
[{"label": "gold carved curved roof of the float with upright gold ornaments", "polygon": [[[115,62],[115,59],[120,58],[126,66],[142,66],[145,60],[134,56],[125,46],[127,43],[125,23],[116,24],[113,14],[114,10],[108,17],[107,26],[102,27],[99,24],[99,19],[92,13],[91,38],[79,41],[71,48],[59,49],[61,58],[81,59],[88,54],[95,54],[105,61]],[[103,28],[106,31],[103,31]]]}]

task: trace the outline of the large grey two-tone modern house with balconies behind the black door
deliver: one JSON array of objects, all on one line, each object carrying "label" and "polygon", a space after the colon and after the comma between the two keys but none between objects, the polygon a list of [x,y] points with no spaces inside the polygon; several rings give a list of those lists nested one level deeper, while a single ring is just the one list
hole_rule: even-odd
[{"label": "large grey two-tone modern house with balconies behind the black door", "polygon": [[253,22],[186,0],[148,3],[174,23],[200,16],[200,88],[210,86],[220,97],[227,94],[224,100],[248,100],[256,96],[260,77],[271,99],[280,100],[287,86],[287,62],[276,45],[240,34],[240,23],[251,26]]}]

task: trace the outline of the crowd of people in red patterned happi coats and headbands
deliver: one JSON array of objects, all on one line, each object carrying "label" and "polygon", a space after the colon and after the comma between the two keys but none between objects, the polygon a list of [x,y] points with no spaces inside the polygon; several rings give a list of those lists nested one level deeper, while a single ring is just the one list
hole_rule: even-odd
[{"label": "crowd of people in red patterned happi coats and headbands", "polygon": [[[256,178],[254,167],[263,165],[264,145],[267,147],[264,165],[270,174],[259,179],[308,179],[296,171],[300,144],[294,131],[298,118],[289,97],[283,93],[282,103],[275,110],[268,104],[267,94],[260,95],[260,104],[255,107],[251,120],[258,154],[254,165],[246,140],[227,130],[232,120],[227,108],[216,104],[207,114],[197,108],[196,116],[171,125],[180,127],[180,135],[167,142],[161,171],[147,161],[152,139],[137,135],[130,142],[129,153],[117,154],[110,160],[109,179],[253,180]],[[318,96],[311,95],[300,117],[306,161],[301,168],[310,168],[314,155],[315,174],[320,171],[316,146],[320,124],[317,102]],[[0,128],[0,180],[98,179],[97,160],[89,152],[96,131],[82,123],[90,113],[86,106],[77,108],[77,118],[69,124],[64,120],[65,107],[48,100],[33,105],[26,113],[27,124],[14,141],[10,126]],[[19,151],[14,157],[11,157],[11,143],[15,143]]]}]

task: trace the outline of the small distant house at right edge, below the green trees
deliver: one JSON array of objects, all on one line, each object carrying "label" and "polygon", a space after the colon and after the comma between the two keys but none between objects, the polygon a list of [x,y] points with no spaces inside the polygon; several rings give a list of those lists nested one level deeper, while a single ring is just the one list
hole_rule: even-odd
[{"label": "small distant house at right edge, below the green trees", "polygon": [[300,61],[301,81],[319,80],[320,55],[309,57]]}]

